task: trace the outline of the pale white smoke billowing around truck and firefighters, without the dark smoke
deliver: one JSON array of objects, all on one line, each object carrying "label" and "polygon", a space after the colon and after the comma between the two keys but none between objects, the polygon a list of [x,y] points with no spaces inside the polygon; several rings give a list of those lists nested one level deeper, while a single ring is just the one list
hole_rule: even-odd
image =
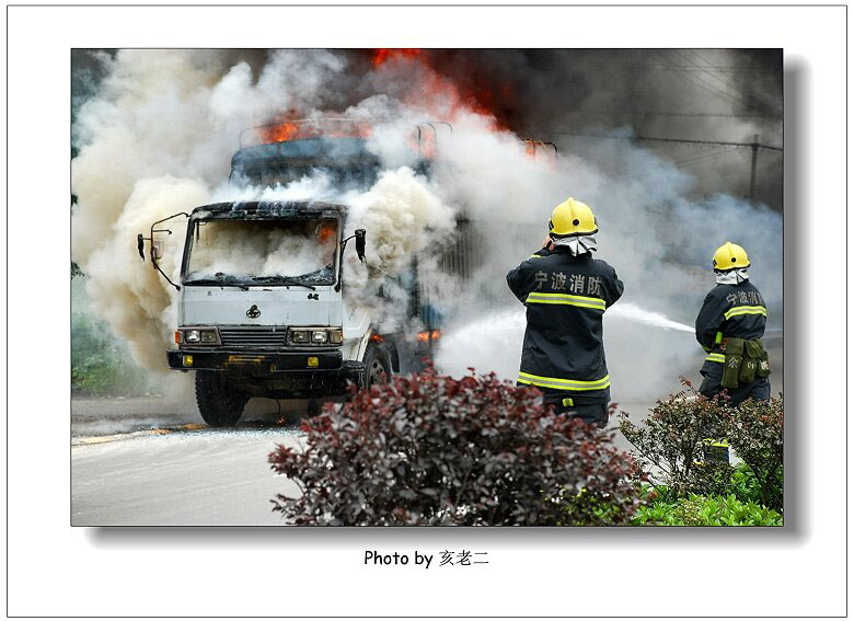
[{"label": "pale white smoke billowing around truck and firefighters, without the dark smoke", "polygon": [[[540,248],[552,207],[567,196],[593,207],[598,256],[626,285],[621,303],[690,324],[714,284],[702,266],[730,240],[751,254],[751,277],[772,307],[772,322],[782,306],[778,214],[726,195],[691,199],[690,175],[627,141],[591,142],[561,158],[541,149],[531,158],[519,137],[497,129],[417,58],[396,58],[365,74],[351,70],[346,54],[319,50],[277,51],[261,64],[232,53],[176,50],[122,50],[104,61],[107,78],[80,107],[74,127],[72,257],[90,277],[93,308],[149,368],[164,365],[175,292],[140,261],[136,234],[214,200],[349,204],[348,232],[367,229],[368,261],[360,265],[347,253],[348,292],[372,297],[385,276],[417,256],[429,302],[446,319],[438,364],[452,372],[476,367],[515,376],[523,308],[505,275]],[[354,93],[361,97],[355,104]],[[284,187],[229,185],[240,131],[295,111],[371,119],[369,147],[385,169],[376,185],[354,192],[322,174]],[[453,125],[452,131],[423,126],[436,156],[429,180],[411,168],[414,127],[425,119]],[[458,221],[476,240],[474,276],[464,281],[441,273],[432,252],[458,234]],[[163,268],[174,279],[183,219],[170,228]],[[245,253],[261,261],[257,249]],[[660,394],[699,366],[702,352],[691,334],[620,314],[607,315],[605,327],[615,399]]]}]

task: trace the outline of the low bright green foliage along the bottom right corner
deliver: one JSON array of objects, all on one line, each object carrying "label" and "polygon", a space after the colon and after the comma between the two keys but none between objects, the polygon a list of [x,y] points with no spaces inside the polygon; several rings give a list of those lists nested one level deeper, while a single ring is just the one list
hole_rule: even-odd
[{"label": "low bright green foliage along the bottom right corner", "polygon": [[658,501],[638,508],[636,526],[783,526],[783,516],[755,503],[742,502],[735,494],[699,496],[673,502]]}]

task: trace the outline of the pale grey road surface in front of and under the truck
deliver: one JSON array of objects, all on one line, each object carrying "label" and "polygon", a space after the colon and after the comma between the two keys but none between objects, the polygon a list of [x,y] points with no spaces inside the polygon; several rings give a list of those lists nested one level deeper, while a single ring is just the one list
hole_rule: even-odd
[{"label": "pale grey road surface in front of and under the truck", "polygon": [[[780,375],[772,379],[776,394]],[[297,422],[305,403],[281,404],[279,411],[275,401],[252,400],[242,423],[222,430],[207,427],[189,401],[72,399],[71,524],[281,525],[270,499],[298,490],[269,469],[267,456],[277,444],[300,446]],[[620,403],[635,423],[651,406]],[[620,434],[614,444],[630,448]]]}]

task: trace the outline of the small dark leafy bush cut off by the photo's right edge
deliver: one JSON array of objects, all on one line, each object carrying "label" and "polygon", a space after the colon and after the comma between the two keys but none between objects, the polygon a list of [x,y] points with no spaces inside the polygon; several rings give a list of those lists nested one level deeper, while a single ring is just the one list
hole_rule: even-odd
[{"label": "small dark leafy bush cut off by the photo's right edge", "polygon": [[749,399],[727,407],[724,427],[729,446],[750,467],[763,505],[783,509],[783,395]]}]

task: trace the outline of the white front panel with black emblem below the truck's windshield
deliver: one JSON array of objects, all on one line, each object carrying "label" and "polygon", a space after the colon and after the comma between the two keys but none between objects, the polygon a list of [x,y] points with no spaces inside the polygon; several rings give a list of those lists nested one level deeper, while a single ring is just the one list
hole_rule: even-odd
[{"label": "white front panel with black emblem below the truck's windshield", "polygon": [[181,296],[181,325],[342,325],[341,294],[332,286],[243,290],[193,285],[185,286]]}]

